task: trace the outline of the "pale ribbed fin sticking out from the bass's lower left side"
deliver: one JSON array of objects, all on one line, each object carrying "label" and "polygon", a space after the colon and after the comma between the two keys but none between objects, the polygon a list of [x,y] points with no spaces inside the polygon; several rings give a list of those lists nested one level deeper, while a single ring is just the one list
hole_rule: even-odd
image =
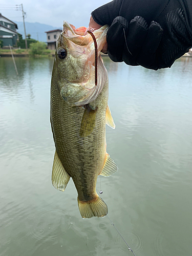
[{"label": "pale ribbed fin sticking out from the bass's lower left side", "polygon": [[55,157],[53,161],[53,170],[52,170],[52,184],[53,186],[60,190],[64,191],[71,176],[66,172],[63,167],[57,152],[55,151]]}]

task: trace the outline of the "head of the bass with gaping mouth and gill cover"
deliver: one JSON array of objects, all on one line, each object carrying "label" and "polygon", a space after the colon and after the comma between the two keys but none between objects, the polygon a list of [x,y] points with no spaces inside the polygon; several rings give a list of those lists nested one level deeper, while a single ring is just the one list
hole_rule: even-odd
[{"label": "head of the bass with gaping mouth and gill cover", "polygon": [[86,27],[76,29],[64,21],[63,30],[57,40],[57,53],[66,52],[65,59],[58,57],[58,61],[55,60],[60,79],[60,94],[70,105],[92,102],[108,80],[100,57],[108,26],[84,35],[86,30]]}]

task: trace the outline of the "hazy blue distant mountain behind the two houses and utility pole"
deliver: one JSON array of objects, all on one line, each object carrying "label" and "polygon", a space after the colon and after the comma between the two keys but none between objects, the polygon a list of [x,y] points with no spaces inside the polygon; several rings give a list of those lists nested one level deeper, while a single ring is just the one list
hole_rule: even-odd
[{"label": "hazy blue distant mountain behind the two houses and utility pole", "polygon": [[[13,22],[16,23],[18,26],[17,32],[19,34],[22,34],[23,39],[25,39],[23,22],[16,22],[16,20],[14,20]],[[50,25],[41,24],[38,22],[35,22],[35,23],[25,22],[25,26],[26,26],[26,34],[31,34],[31,38],[42,41],[42,42],[47,41],[47,37],[46,37],[46,33],[45,33],[46,31],[54,30],[54,29],[61,29],[58,27],[52,27]]]}]

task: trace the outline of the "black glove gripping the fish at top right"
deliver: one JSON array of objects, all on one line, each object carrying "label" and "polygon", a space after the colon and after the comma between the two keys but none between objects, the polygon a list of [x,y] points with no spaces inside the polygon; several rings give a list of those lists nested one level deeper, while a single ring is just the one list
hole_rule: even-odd
[{"label": "black glove gripping the fish at top right", "polygon": [[[192,46],[192,1],[188,0],[189,9],[186,1],[154,0],[150,5],[150,0],[114,0],[93,11],[92,17],[100,25],[110,25],[106,39],[113,61],[154,70],[170,68]],[[133,17],[136,13],[141,16]]]}]

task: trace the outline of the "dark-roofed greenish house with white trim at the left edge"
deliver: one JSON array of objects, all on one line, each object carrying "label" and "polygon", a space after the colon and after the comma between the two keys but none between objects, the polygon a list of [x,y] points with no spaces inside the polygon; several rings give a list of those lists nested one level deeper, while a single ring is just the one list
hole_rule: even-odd
[{"label": "dark-roofed greenish house with white trim at the left edge", "polygon": [[3,46],[16,46],[18,38],[16,29],[18,29],[17,25],[0,13],[0,40],[3,41]]}]

